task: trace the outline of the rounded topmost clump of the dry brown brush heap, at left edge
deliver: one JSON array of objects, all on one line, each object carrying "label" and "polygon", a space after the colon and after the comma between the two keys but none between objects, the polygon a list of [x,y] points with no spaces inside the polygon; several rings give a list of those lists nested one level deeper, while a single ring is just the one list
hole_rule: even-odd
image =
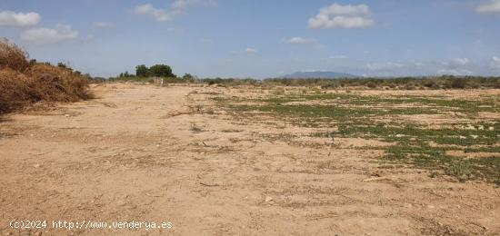
[{"label": "rounded topmost clump of the dry brown brush heap, at left edge", "polygon": [[6,38],[0,38],[0,69],[10,68],[24,72],[30,65],[28,53]]}]

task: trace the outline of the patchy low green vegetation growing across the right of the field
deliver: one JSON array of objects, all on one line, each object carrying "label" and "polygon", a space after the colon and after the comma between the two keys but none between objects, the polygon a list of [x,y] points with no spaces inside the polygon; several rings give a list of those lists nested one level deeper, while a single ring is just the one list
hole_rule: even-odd
[{"label": "patchy low green vegetation growing across the right of the field", "polygon": [[[462,85],[462,82],[455,84]],[[500,184],[500,159],[495,157],[500,145],[500,121],[485,122],[476,118],[478,113],[500,113],[495,95],[468,100],[445,96],[317,93],[315,89],[310,92],[285,93],[283,88],[278,88],[272,95],[256,99],[224,98],[220,94],[214,99],[240,118],[254,119],[258,117],[255,114],[260,113],[297,126],[335,130],[310,133],[310,136],[392,143],[372,147],[384,150],[382,162],[414,165],[433,172],[433,176],[441,172],[460,182],[482,180]],[[470,122],[457,121],[429,128],[398,118],[445,113],[461,113]],[[468,156],[481,152],[485,157],[466,158],[449,152],[463,152]]]}]

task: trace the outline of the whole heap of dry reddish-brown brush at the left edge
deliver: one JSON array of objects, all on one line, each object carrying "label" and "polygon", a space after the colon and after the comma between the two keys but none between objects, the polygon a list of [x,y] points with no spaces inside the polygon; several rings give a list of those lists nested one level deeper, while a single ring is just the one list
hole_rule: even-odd
[{"label": "whole heap of dry reddish-brown brush at the left edge", "polygon": [[76,102],[92,98],[88,79],[72,69],[28,61],[16,44],[0,39],[0,113],[40,101]]}]

